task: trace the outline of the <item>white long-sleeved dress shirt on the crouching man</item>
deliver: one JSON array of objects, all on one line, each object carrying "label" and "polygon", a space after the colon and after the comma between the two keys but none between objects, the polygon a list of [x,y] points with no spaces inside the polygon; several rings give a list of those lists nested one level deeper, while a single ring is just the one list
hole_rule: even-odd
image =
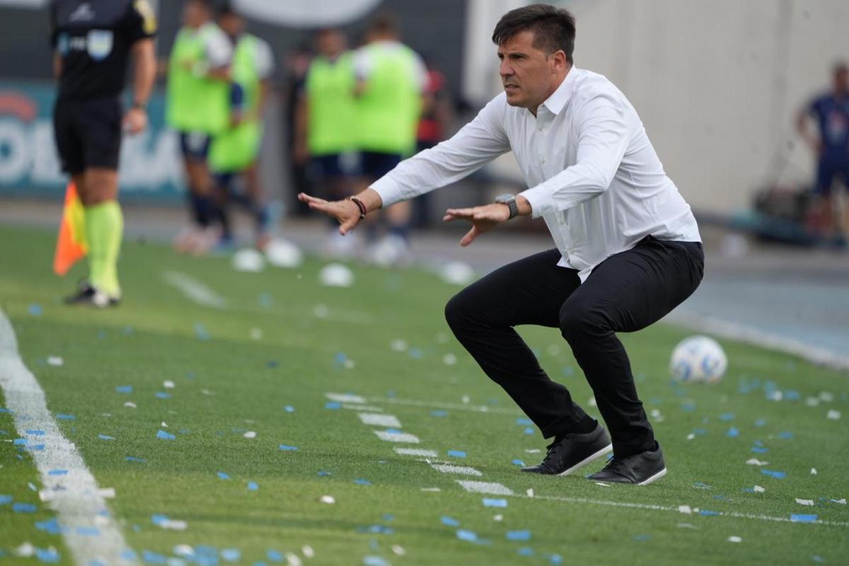
[{"label": "white long-sleeved dress shirt on the crouching man", "polygon": [[604,76],[572,67],[537,116],[493,98],[451,139],[402,161],[371,185],[384,206],[456,182],[513,150],[534,218],[559,266],[585,281],[593,267],[646,236],[700,242],[699,227],[636,110]]}]

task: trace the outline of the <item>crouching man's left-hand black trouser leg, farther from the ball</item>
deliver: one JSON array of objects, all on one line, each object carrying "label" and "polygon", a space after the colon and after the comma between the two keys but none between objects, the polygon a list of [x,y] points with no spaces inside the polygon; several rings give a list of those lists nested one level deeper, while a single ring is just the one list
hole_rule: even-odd
[{"label": "crouching man's left-hand black trouser leg, farther from the ball", "polygon": [[472,283],[445,307],[460,344],[545,438],[593,424],[569,390],[548,378],[514,330],[519,324],[557,327],[560,305],[580,283],[575,270],[557,266],[559,260],[551,249],[514,261]]}]

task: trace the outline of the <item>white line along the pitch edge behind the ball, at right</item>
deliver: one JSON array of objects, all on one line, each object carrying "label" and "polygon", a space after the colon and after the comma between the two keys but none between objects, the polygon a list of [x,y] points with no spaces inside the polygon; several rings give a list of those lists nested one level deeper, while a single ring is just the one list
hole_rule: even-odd
[{"label": "white line along the pitch edge behind the ball, at right", "polygon": [[817,346],[806,344],[801,340],[764,332],[763,330],[746,326],[739,322],[729,322],[717,317],[680,311],[673,311],[671,314],[666,315],[663,318],[663,322],[690,328],[697,332],[713,334],[724,339],[737,340],[746,344],[760,346],[767,348],[767,350],[778,350],[799,356],[821,366],[841,370],[849,369],[849,357],[847,356],[840,356],[831,350],[818,348]]}]

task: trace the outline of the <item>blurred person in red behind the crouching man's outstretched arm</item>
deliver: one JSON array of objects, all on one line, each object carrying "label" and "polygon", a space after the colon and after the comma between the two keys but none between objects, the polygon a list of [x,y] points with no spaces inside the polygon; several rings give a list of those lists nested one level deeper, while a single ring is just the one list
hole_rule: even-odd
[{"label": "blurred person in red behind the crouching man's outstretched arm", "polygon": [[[448,97],[445,75],[436,67],[433,59],[424,58],[427,83],[422,95],[422,115],[416,133],[416,150],[424,151],[445,139],[451,123],[451,101]],[[415,226],[427,223],[430,194],[423,194],[414,203]]]}]

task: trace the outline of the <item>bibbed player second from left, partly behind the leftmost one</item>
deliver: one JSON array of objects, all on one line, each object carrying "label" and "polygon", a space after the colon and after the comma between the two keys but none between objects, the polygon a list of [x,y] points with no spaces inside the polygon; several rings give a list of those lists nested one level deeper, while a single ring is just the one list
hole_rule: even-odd
[{"label": "bibbed player second from left, partly behind the leftmost one", "polygon": [[[261,117],[274,70],[274,57],[266,42],[245,33],[245,19],[233,8],[222,9],[218,25],[233,46],[230,123],[224,132],[213,138],[209,155],[219,199],[216,208],[222,223],[220,244],[225,247],[233,244],[226,210],[227,201],[232,198],[253,216],[256,248],[264,249],[269,238],[268,211],[262,202],[257,161],[262,142]],[[245,180],[244,194],[232,193],[233,179],[239,175]]]}]

